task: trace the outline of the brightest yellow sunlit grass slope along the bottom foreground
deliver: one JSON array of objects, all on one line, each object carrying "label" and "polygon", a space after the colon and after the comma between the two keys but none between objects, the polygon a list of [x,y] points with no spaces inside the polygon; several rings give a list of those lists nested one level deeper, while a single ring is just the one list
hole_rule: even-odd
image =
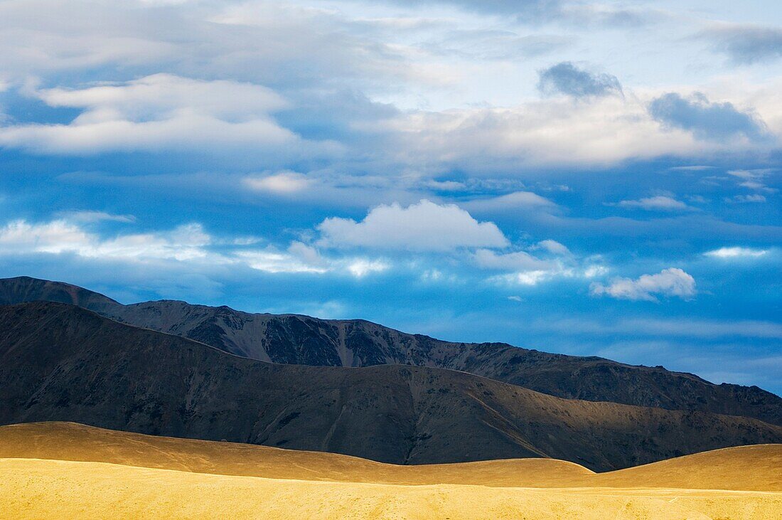
[{"label": "brightest yellow sunlit grass slope along the bottom foreground", "polygon": [[782,494],[403,486],[0,459],[0,518],[773,519]]}]

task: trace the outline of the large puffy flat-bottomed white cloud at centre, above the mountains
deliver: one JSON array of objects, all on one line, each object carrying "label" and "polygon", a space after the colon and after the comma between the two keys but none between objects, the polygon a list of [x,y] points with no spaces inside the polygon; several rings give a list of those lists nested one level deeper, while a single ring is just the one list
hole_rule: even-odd
[{"label": "large puffy flat-bottomed white cloud at centre, above the mountains", "polygon": [[368,247],[448,251],[462,247],[504,247],[508,238],[492,222],[476,221],[453,204],[423,199],[417,204],[377,206],[361,222],[331,217],[318,224],[320,244],[330,247]]}]

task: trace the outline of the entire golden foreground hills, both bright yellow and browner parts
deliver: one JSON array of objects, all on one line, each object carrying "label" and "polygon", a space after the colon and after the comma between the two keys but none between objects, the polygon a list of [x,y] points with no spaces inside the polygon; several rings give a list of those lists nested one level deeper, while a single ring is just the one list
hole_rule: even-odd
[{"label": "entire golden foreground hills, both bright yellow and browner parts", "polygon": [[397,466],[63,422],[0,427],[2,518],[782,518],[782,445],[596,474]]}]

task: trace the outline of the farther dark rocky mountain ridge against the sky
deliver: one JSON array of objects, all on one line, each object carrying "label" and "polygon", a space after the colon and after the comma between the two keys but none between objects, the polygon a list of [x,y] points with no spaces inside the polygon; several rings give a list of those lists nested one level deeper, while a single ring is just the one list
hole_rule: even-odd
[{"label": "farther dark rocky mountain ridge against the sky", "polygon": [[0,280],[0,303],[36,300],[71,303],[117,321],[278,364],[446,368],[566,399],[708,411],[782,425],[782,399],[773,393],[756,386],[715,385],[696,375],[662,367],[544,353],[505,343],[446,342],[363,320],[249,314],[229,307],[172,300],[122,305],[60,282],[29,277]]}]

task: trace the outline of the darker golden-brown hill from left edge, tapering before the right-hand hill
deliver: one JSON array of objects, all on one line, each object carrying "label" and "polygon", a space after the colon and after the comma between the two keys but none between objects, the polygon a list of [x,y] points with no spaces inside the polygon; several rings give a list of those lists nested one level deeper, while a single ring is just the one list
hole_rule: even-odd
[{"label": "darker golden-brown hill from left edge, tapering before the right-hand hill", "polygon": [[553,459],[401,466],[317,451],[117,432],[72,422],[2,426],[0,457],[108,462],[270,479],[389,484],[558,486],[594,475],[578,464]]}]

